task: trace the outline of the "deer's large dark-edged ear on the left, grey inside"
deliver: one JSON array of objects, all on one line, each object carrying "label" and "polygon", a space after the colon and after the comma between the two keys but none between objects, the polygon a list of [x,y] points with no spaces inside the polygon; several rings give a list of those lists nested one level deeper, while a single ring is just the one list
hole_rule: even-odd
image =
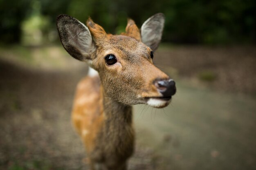
[{"label": "deer's large dark-edged ear on the left, grey inside", "polygon": [[92,35],[89,29],[79,20],[69,15],[59,15],[57,29],[65,50],[80,61],[88,61],[95,51]]}]

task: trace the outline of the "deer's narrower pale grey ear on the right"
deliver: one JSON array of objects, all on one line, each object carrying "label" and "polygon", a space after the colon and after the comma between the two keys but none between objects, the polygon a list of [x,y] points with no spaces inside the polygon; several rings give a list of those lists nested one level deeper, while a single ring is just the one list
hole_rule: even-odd
[{"label": "deer's narrower pale grey ear on the right", "polygon": [[141,26],[141,41],[155,51],[162,38],[164,14],[157,13],[148,18]]}]

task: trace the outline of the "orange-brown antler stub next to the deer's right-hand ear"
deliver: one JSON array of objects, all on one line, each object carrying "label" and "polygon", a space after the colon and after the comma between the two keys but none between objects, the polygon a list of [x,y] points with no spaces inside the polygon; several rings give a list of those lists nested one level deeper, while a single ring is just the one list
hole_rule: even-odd
[{"label": "orange-brown antler stub next to the deer's right-hand ear", "polygon": [[141,41],[139,28],[132,19],[128,19],[125,31],[125,35],[135,38],[138,41]]}]

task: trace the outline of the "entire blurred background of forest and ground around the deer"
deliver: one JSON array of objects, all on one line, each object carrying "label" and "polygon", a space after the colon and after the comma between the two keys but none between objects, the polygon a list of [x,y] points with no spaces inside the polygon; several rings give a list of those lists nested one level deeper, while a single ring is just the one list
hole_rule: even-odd
[{"label": "entire blurred background of forest and ground around the deer", "polygon": [[87,66],[65,51],[56,17],[108,33],[166,16],[154,64],[177,93],[134,107],[129,170],[255,170],[255,0],[0,0],[0,170],[86,170],[70,122]]}]

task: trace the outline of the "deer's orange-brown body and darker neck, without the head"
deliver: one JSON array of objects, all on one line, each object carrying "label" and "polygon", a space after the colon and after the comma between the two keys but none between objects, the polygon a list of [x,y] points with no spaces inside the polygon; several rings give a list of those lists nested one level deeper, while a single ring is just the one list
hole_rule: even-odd
[{"label": "deer's orange-brown body and darker neck, without the head", "polygon": [[120,170],[125,169],[133,152],[132,108],[104,97],[99,76],[89,75],[79,82],[72,121],[94,161],[90,163],[105,163],[111,169],[123,165]]}]

